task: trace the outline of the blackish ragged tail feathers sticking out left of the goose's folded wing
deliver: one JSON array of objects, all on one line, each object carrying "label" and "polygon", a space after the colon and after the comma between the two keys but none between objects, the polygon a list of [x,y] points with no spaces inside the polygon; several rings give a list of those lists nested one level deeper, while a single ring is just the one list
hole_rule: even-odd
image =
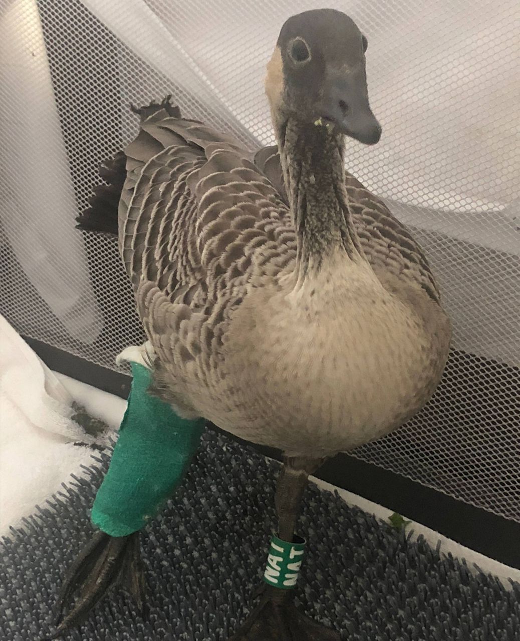
[{"label": "blackish ragged tail feathers sticking out left of the goose's folded wing", "polygon": [[126,179],[124,153],[119,151],[113,158],[105,160],[99,167],[99,175],[107,184],[94,187],[94,193],[88,199],[90,207],[76,219],[78,228],[117,236],[117,209]]}]

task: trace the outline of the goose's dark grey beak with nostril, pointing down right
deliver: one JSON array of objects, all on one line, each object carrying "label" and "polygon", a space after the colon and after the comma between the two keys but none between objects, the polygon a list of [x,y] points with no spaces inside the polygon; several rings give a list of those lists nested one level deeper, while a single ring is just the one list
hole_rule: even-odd
[{"label": "goose's dark grey beak with nostril, pointing down right", "polygon": [[381,125],[372,113],[364,70],[356,74],[334,74],[326,81],[320,116],[341,133],[365,145],[381,138]]}]

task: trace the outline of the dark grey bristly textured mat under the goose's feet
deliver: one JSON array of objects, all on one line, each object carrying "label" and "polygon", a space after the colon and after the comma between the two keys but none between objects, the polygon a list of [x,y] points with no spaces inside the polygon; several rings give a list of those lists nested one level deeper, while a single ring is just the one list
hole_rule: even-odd
[{"label": "dark grey bristly textured mat under the goose's feet", "polygon": [[[108,458],[4,540],[2,641],[49,633],[62,572],[92,531],[88,510]],[[185,483],[144,535],[151,586],[146,622],[114,594],[67,638],[223,640],[247,613],[274,523],[276,463],[207,433]],[[308,615],[349,641],[519,641],[520,585],[464,563],[311,485],[299,531],[308,552],[298,589]]]}]

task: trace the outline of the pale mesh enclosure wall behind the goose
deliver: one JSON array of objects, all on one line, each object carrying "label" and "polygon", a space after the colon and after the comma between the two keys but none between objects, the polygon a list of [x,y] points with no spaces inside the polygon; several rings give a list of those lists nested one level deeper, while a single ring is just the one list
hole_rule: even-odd
[{"label": "pale mesh enclosure wall behind the goose", "polygon": [[[278,4],[0,0],[0,304],[18,331],[113,369],[143,340],[115,240],[74,218],[135,134],[129,103],[172,93],[251,148],[273,142],[265,63],[283,20],[320,3]],[[432,401],[355,454],[520,521],[520,6],[325,4],[367,35],[383,124],[348,168],[410,226],[454,326]]]}]

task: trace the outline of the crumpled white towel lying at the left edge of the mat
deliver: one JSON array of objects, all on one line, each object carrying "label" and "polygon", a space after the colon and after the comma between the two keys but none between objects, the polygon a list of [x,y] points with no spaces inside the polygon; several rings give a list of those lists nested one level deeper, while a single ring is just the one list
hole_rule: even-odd
[{"label": "crumpled white towel lying at the left edge of the mat", "polygon": [[[72,419],[74,400],[83,399],[60,379],[0,316],[0,535],[20,526],[35,504],[44,505],[71,472],[81,474],[81,465],[92,463],[92,449],[75,442],[108,444],[108,429],[92,436]],[[112,402],[112,428],[124,406],[122,399],[115,399],[115,409]]]}]

